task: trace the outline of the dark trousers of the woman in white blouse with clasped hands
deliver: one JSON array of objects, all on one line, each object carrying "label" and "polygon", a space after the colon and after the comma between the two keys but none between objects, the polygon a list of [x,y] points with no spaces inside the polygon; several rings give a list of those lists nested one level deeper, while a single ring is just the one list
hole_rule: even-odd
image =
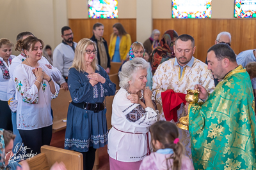
[{"label": "dark trousers of the woman in white blouse with clasped hands", "polygon": [[33,130],[20,130],[20,136],[24,146],[30,148],[27,153],[41,153],[41,146],[50,145],[52,139],[52,125]]}]

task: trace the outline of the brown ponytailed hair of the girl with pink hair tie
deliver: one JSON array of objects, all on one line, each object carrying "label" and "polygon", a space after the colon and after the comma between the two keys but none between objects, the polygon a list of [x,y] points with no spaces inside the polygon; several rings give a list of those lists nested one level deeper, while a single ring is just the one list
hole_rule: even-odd
[{"label": "brown ponytailed hair of the girl with pink hair tie", "polygon": [[[159,121],[150,127],[150,132],[151,142],[153,140],[155,143],[156,141],[159,141],[163,145],[163,149],[173,149],[173,154],[166,158],[167,168],[169,169],[168,160],[173,159],[172,169],[179,170],[181,167],[181,159],[184,152],[184,146],[179,142],[179,139],[177,139],[179,138],[179,131],[177,126],[171,122]],[[174,143],[175,139],[177,142]],[[156,150],[156,148],[154,148],[154,150]]]}]

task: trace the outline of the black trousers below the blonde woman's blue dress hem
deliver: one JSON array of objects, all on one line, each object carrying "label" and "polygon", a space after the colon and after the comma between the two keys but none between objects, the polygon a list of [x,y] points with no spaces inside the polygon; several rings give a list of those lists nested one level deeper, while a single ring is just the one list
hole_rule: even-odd
[{"label": "black trousers below the blonde woman's blue dress hem", "polygon": [[95,160],[95,152],[96,149],[93,147],[89,147],[88,152],[81,152],[83,153],[84,170],[92,170]]}]

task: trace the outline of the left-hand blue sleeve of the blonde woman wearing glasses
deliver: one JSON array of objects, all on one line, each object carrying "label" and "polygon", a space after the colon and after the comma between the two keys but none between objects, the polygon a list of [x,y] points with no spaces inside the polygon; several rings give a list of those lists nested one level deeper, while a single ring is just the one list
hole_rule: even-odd
[{"label": "left-hand blue sleeve of the blonde woman wearing glasses", "polygon": [[79,73],[76,69],[71,68],[68,72],[68,89],[74,103],[81,103],[86,99],[93,98],[93,86],[89,81],[81,82]]}]

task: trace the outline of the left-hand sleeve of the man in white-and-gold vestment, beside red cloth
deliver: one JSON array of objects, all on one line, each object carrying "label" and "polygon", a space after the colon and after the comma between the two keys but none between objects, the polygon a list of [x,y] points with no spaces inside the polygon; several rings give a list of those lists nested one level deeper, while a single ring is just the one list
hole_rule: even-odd
[{"label": "left-hand sleeve of the man in white-and-gold vestment, beside red cloth", "polygon": [[164,92],[163,90],[163,85],[162,85],[162,78],[161,76],[161,67],[157,67],[156,73],[153,76],[153,87],[152,87],[152,92],[153,96],[156,99],[156,102],[162,105],[162,97],[161,97],[161,92]]}]

